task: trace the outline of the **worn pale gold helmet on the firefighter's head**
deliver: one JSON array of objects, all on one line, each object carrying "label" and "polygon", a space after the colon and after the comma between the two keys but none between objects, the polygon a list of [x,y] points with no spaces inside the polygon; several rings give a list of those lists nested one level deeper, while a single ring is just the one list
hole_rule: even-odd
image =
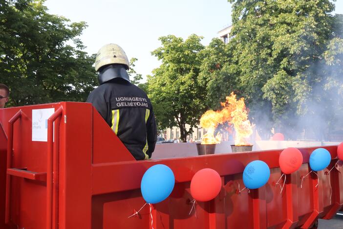
[{"label": "worn pale gold helmet on the firefighter's head", "polygon": [[116,44],[107,44],[102,46],[95,59],[95,70],[98,71],[101,67],[110,64],[122,64],[129,70],[129,60],[123,48]]}]

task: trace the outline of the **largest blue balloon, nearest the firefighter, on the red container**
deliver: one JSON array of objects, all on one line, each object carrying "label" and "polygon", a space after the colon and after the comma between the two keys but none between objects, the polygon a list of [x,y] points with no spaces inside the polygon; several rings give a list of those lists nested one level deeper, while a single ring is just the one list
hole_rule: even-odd
[{"label": "largest blue balloon, nearest the firefighter, on the red container", "polygon": [[165,200],[174,188],[175,177],[172,169],[164,164],[151,166],[143,175],[141,192],[148,204]]}]

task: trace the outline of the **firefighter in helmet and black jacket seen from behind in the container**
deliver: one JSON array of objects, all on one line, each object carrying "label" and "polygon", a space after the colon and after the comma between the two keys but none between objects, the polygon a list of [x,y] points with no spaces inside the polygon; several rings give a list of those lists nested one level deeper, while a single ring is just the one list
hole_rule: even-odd
[{"label": "firefighter in helmet and black jacket seen from behind in the container", "polygon": [[151,157],[157,140],[155,117],[148,95],[130,83],[129,60],[116,44],[100,48],[95,59],[100,86],[88,95],[114,133],[136,160]]}]

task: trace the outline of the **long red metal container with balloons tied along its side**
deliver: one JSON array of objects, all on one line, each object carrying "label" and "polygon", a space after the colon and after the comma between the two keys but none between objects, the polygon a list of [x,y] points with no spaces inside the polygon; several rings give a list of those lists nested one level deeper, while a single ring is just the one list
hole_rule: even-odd
[{"label": "long red metal container with balloons tied along its side", "polygon": [[[33,110],[53,108],[47,140],[32,141]],[[331,169],[337,146],[325,146],[332,161],[310,171],[314,148],[301,148],[303,164],[286,175],[280,194],[281,150],[136,161],[89,103],[62,102],[0,109],[0,228],[8,229],[232,229],[310,228],[343,206],[343,169]],[[268,183],[248,193],[242,172],[250,161],[271,168]],[[144,207],[144,172],[169,166],[175,186],[169,198]],[[192,208],[190,181],[202,168],[221,176],[222,189],[210,202]],[[317,186],[317,183],[319,185]],[[330,188],[331,187],[331,188]]]}]

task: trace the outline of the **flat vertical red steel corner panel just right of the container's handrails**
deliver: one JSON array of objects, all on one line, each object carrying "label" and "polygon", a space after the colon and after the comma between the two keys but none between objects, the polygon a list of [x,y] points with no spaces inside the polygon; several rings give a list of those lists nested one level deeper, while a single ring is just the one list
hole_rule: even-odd
[{"label": "flat vertical red steel corner panel just right of the container's handrails", "polygon": [[59,227],[90,229],[92,106],[62,104]]}]

